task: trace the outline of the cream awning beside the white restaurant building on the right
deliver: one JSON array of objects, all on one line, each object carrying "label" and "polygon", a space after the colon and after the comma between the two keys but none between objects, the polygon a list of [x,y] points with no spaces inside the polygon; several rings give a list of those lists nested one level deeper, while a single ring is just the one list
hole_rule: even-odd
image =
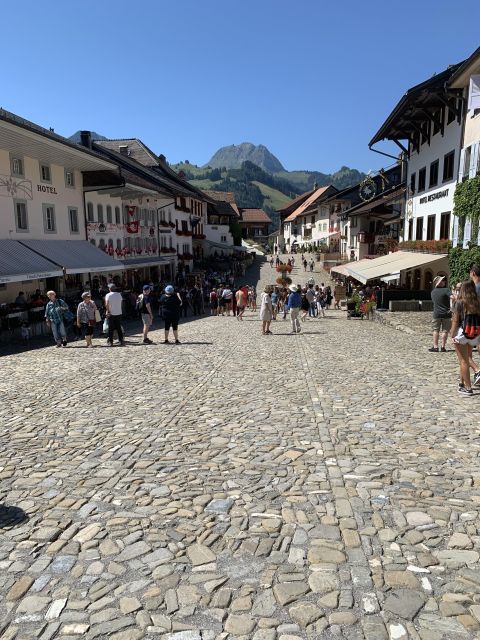
[{"label": "cream awning beside the white restaurant building on the right", "polygon": [[380,256],[373,260],[360,260],[346,265],[349,274],[362,284],[369,280],[377,280],[407,269],[425,266],[444,260],[446,254],[413,253],[409,251],[397,251],[387,256]]}]

